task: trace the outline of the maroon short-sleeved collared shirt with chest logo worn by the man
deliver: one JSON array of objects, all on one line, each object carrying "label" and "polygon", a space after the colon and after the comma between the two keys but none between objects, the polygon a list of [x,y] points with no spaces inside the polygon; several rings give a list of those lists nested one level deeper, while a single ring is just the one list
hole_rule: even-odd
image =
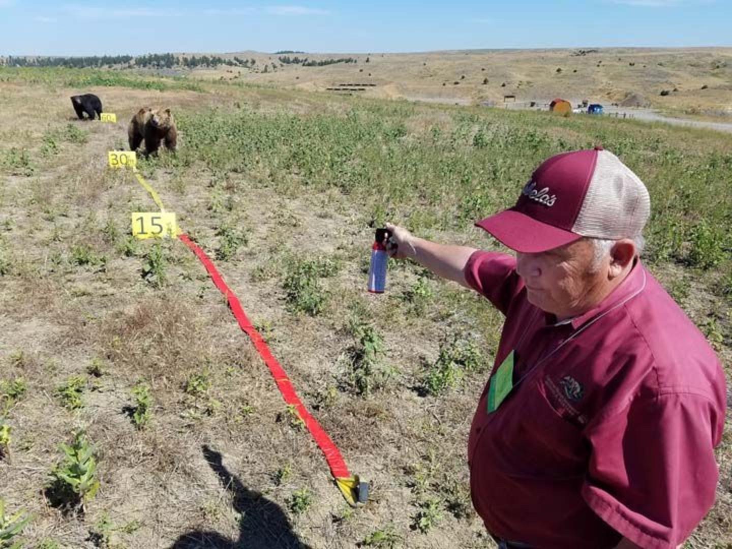
[{"label": "maroon short-sleeved collared shirt with chest logo worn by the man", "polygon": [[556,323],[509,255],[476,252],[466,280],[506,322],[496,367],[515,385],[468,440],[488,530],[542,549],[676,548],[714,503],[725,377],[701,332],[638,262],[597,308]]}]

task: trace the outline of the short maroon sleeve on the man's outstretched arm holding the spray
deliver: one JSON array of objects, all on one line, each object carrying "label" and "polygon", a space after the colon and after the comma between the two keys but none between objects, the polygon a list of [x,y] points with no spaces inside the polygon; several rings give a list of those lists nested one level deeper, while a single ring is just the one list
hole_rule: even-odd
[{"label": "short maroon sleeve on the man's outstretched arm holding the spray", "polygon": [[504,253],[476,250],[468,258],[463,274],[468,285],[488,298],[504,315],[523,288],[516,273],[516,259]]}]

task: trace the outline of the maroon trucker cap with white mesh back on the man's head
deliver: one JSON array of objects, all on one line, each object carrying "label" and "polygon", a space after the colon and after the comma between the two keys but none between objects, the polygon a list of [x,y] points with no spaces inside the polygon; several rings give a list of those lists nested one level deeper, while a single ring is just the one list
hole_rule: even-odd
[{"label": "maroon trucker cap with white mesh back on the man's head", "polygon": [[545,160],[515,206],[476,225],[507,247],[537,253],[591,236],[639,236],[651,212],[646,186],[602,147]]}]

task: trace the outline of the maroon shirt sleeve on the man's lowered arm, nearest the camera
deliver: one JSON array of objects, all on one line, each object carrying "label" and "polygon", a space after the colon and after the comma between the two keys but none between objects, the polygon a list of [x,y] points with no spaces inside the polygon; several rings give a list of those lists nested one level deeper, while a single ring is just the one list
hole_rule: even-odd
[{"label": "maroon shirt sleeve on the man's lowered arm, nearest the camera", "polygon": [[720,421],[702,395],[638,397],[589,426],[583,498],[641,548],[676,548],[714,504]]}]

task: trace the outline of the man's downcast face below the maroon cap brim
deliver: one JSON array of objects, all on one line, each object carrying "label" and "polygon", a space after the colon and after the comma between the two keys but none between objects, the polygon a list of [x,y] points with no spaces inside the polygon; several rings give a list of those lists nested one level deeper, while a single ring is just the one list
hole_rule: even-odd
[{"label": "man's downcast face below the maroon cap brim", "polygon": [[516,258],[529,303],[559,320],[583,313],[588,297],[607,283],[608,259],[592,272],[594,245],[589,239],[542,253],[517,252]]}]

